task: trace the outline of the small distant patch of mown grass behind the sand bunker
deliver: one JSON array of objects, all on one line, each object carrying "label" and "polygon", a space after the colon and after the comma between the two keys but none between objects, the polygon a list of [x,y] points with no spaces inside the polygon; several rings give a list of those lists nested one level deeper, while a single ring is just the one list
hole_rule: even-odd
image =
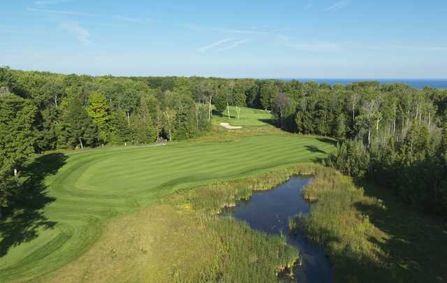
[{"label": "small distant patch of mown grass behind the sand bunker", "polygon": [[230,123],[231,126],[243,127],[270,126],[270,123],[273,123],[273,116],[267,110],[241,107],[239,119],[236,114],[234,106],[230,106],[230,119],[228,119],[227,111],[221,114],[213,110],[213,122],[215,124]]}]

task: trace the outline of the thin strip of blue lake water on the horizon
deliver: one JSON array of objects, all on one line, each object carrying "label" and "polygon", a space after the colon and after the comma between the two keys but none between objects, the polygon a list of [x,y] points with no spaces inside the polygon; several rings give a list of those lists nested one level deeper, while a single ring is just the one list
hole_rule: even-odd
[{"label": "thin strip of blue lake water on the horizon", "polygon": [[291,79],[291,78],[284,78],[280,80],[299,80],[300,82],[310,82],[314,81],[318,84],[321,84],[322,82],[325,82],[329,85],[348,85],[353,82],[365,82],[370,80],[376,80],[380,82],[381,84],[387,83],[392,84],[396,82],[403,83],[405,85],[409,85],[410,87],[413,87],[413,89],[423,89],[424,87],[432,87],[434,89],[447,89],[447,79],[303,79],[303,78],[297,78],[297,79]]}]

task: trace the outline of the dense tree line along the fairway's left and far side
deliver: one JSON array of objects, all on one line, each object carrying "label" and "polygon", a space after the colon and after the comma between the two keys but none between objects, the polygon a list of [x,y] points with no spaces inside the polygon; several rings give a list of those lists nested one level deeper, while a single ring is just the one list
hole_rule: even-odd
[{"label": "dense tree line along the fairway's left and far side", "polygon": [[0,67],[0,216],[20,191],[32,154],[157,138],[195,138],[211,129],[213,106],[270,109],[274,80],[61,75]]}]

